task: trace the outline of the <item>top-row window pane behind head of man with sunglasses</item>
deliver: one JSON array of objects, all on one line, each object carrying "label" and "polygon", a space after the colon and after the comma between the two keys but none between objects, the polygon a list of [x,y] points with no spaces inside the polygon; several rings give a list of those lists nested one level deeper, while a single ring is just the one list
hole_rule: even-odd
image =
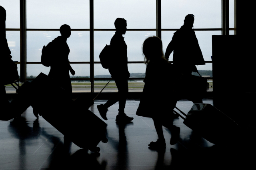
[{"label": "top-row window pane behind head of man with sunglasses", "polygon": [[194,28],[221,28],[221,0],[162,0],[162,28],[180,28],[194,14]]}]

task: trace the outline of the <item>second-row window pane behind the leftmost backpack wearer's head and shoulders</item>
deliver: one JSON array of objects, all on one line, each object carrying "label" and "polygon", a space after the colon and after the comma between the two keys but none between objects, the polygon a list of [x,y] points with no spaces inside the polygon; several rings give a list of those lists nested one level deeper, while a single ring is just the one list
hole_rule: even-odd
[{"label": "second-row window pane behind the leftmost backpack wearer's head and shoulders", "polygon": [[[42,48],[60,36],[59,31],[27,31],[27,61],[40,62]],[[67,39],[69,61],[90,61],[89,31],[72,31]]]}]

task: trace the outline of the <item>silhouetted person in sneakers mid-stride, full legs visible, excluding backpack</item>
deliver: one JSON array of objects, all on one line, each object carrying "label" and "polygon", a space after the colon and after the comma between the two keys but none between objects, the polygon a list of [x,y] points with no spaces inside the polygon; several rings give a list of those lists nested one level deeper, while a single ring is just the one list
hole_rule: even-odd
[{"label": "silhouetted person in sneakers mid-stride, full legs visible, excluding backpack", "polygon": [[126,104],[126,97],[128,94],[128,81],[130,73],[128,71],[128,59],[127,59],[127,45],[124,41],[123,34],[126,33],[126,20],[123,18],[117,18],[115,21],[116,33],[110,41],[110,47],[112,50],[111,64],[109,67],[109,72],[112,79],[116,82],[116,87],[118,88],[118,94],[113,96],[106,102],[106,104],[98,105],[97,108],[103,119],[108,120],[106,113],[108,107],[112,106],[116,102],[119,102],[118,115],[116,115],[116,121],[127,122],[132,121],[132,117],[128,117],[124,113],[124,108]]}]

